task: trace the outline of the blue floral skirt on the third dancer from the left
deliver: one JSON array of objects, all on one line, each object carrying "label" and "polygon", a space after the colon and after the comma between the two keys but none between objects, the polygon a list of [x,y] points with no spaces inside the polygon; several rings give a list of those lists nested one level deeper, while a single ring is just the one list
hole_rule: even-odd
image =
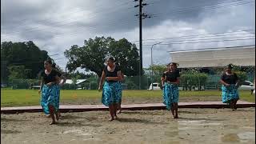
[{"label": "blue floral skirt on the third dancer from the left", "polygon": [[178,86],[166,82],[163,88],[163,103],[166,105],[167,110],[172,108],[173,103],[178,103],[178,96]]}]

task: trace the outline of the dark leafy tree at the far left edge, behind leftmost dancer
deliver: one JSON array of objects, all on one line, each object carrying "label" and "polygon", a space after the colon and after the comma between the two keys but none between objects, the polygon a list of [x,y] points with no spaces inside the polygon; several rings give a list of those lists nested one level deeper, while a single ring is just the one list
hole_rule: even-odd
[{"label": "dark leafy tree at the far left edge, behind leftmost dancer", "polygon": [[[40,50],[34,42],[2,42],[1,44],[1,81],[11,78],[37,78],[42,70],[43,61],[49,58],[45,50]],[[22,66],[24,74],[15,75],[15,70]],[[9,68],[9,69],[8,69]],[[27,74],[26,74],[27,73]]]}]

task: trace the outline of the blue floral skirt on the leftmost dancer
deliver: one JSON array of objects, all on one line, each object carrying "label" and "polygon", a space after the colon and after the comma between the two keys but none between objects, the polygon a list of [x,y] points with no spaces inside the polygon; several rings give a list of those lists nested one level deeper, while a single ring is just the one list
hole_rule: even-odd
[{"label": "blue floral skirt on the leftmost dancer", "polygon": [[49,105],[54,106],[54,110],[58,111],[59,94],[60,86],[57,84],[52,86],[42,86],[41,106],[45,114],[50,114]]}]

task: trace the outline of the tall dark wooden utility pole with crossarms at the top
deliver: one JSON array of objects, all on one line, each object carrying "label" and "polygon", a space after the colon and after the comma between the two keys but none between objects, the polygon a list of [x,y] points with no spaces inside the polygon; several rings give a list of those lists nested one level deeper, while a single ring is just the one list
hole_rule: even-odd
[{"label": "tall dark wooden utility pole with crossarms at the top", "polygon": [[[136,14],[135,16],[138,16],[139,18],[139,68],[138,68],[138,88],[139,90],[142,89],[142,70],[143,70],[143,63],[142,63],[142,19],[150,18],[147,14],[142,13],[142,7],[146,6],[146,3],[142,3],[142,0],[134,0],[134,2],[138,1],[138,5],[134,7],[138,7],[139,14]],[[143,18],[142,18],[143,17]]]}]

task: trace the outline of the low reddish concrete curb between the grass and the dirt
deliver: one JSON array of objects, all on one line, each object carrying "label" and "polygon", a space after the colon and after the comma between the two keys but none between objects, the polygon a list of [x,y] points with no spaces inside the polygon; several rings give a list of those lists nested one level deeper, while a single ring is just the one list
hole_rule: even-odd
[{"label": "low reddish concrete curb between the grass and the dirt", "polygon": [[[238,101],[238,108],[255,107],[255,103]],[[178,108],[228,108],[229,106],[222,102],[179,102]],[[63,105],[60,106],[61,113],[67,112],[83,112],[109,110],[103,105]],[[122,105],[122,110],[166,110],[166,106],[162,103],[147,103]],[[17,113],[37,113],[42,112],[41,106],[20,106],[20,107],[1,107],[1,114],[17,114]]]}]

